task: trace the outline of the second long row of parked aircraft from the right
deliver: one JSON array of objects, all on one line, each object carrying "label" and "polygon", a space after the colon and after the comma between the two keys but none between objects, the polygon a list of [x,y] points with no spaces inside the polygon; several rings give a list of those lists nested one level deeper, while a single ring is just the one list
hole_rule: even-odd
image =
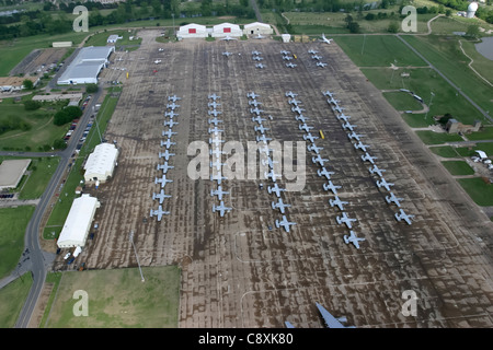
[{"label": "second long row of parked aircraft from the right", "polygon": [[359,248],[359,242],[364,241],[365,238],[359,238],[356,236],[355,232],[352,231],[353,229],[353,222],[356,221],[356,219],[349,218],[347,213],[344,211],[344,206],[348,205],[347,201],[342,201],[339,198],[337,189],[341,188],[341,186],[334,185],[334,183],[331,179],[331,176],[334,174],[334,172],[329,172],[325,167],[325,163],[329,162],[328,159],[323,159],[320,154],[320,151],[323,150],[323,148],[318,147],[314,143],[314,140],[317,140],[319,137],[316,137],[311,133],[311,129],[313,127],[310,127],[307,125],[307,120],[310,118],[303,115],[305,108],[300,107],[301,101],[296,100],[296,96],[298,94],[295,94],[293,91],[286,92],[286,97],[288,97],[288,103],[291,105],[291,112],[296,113],[296,120],[298,120],[300,124],[298,126],[299,130],[302,130],[306,132],[303,135],[303,139],[306,141],[310,141],[311,143],[307,147],[308,151],[313,152],[316,155],[312,156],[311,161],[313,164],[319,164],[321,168],[317,171],[317,174],[319,177],[325,177],[328,179],[326,184],[323,184],[323,189],[326,191],[332,191],[334,195],[334,199],[330,199],[329,203],[331,207],[337,207],[341,210],[341,215],[337,215],[335,219],[339,224],[345,224],[347,229],[349,229],[349,235],[344,235],[344,242],[346,244],[353,243],[356,248]]}]

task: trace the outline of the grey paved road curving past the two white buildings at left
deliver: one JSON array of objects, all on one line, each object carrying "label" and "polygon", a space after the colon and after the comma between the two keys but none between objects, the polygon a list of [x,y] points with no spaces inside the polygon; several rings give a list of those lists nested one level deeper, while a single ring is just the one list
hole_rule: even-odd
[{"label": "grey paved road curving past the two white buildings at left", "polygon": [[[27,256],[23,256],[21,260],[24,260],[25,258],[28,258],[31,260],[31,273],[33,276],[33,285],[31,288],[30,294],[27,295],[24,307],[22,308],[21,314],[18,318],[18,323],[15,324],[16,328],[26,328],[28,326],[31,316],[34,312],[37,300],[39,299],[39,295],[42,293],[47,270],[51,266],[51,262],[55,258],[53,254],[44,252],[39,246],[38,232],[43,215],[46,209],[48,208],[50,198],[54,196],[57,186],[61,180],[61,177],[70,161],[70,156],[76,150],[78,140],[81,138],[85,129],[85,126],[89,122],[89,118],[92,115],[93,110],[92,107],[98,103],[102,94],[102,91],[103,89],[100,89],[98,93],[93,94],[93,98],[91,98],[91,102],[88,104],[85,113],[80,119],[78,128],[72,133],[72,137],[70,138],[70,142],[68,143],[67,149],[65,149],[61,152],[55,153],[60,156],[60,163],[58,164],[55,174],[51,176],[51,179],[49,180],[48,186],[46,187],[45,192],[41,197],[39,203],[34,210],[34,214],[31,218],[30,223],[27,224],[25,235],[25,249],[26,249],[25,252],[28,252],[28,254]],[[22,155],[24,156],[31,156],[28,154],[34,154],[35,156],[36,154],[38,154],[36,152],[20,152],[20,153],[23,153]],[[44,155],[46,156],[47,153],[45,153]]]}]

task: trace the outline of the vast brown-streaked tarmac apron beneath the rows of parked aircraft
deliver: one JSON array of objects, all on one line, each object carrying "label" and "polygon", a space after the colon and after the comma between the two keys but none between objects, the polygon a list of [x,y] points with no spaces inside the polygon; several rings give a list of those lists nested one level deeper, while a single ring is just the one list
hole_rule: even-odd
[{"label": "vast brown-streaked tarmac apron beneath the rows of parked aircraft", "polygon": [[[113,178],[98,189],[94,240],[88,241],[77,262],[92,269],[137,266],[129,242],[142,266],[177,264],[182,268],[180,327],[323,327],[316,302],[334,316],[346,316],[356,327],[492,327],[493,326],[493,223],[469,199],[457,182],[435,160],[381,93],[368,82],[336,44],[283,44],[275,40],[205,42],[183,40],[159,44],[159,31],[140,31],[141,47],[115,52],[102,73],[103,81],[119,80],[124,89],[105,138],[121,149]],[[163,48],[163,51],[159,51]],[[285,67],[280,50],[297,55]],[[308,50],[322,56],[325,68],[317,67]],[[226,57],[223,51],[233,55]],[[252,51],[261,51],[264,69],[255,68]],[[119,59],[121,58],[121,59]],[[162,60],[154,63],[154,60]],[[119,70],[115,68],[121,68]],[[125,68],[125,70],[122,70]],[[129,78],[126,79],[126,72]],[[326,103],[322,91],[330,90],[351,115],[357,132],[364,135],[369,152],[378,156],[378,167],[393,183],[392,190],[404,198],[402,208],[415,215],[412,225],[394,219],[382,188],[368,172]],[[306,164],[302,190],[283,192],[286,217],[297,224],[290,232],[275,226],[282,219],[266,187],[271,179],[226,179],[226,207],[220,218],[210,190],[216,182],[192,179],[188,166],[197,151],[188,153],[193,141],[208,145],[208,94],[220,95],[225,141],[248,141],[260,136],[246,94],[254,91],[262,103],[266,137],[278,142],[302,141],[296,113],[287,91],[298,94],[320,154],[330,161],[332,180],[342,186],[339,196],[349,203],[345,210],[356,218],[354,231],[366,241],[360,248],[344,243],[345,225],[336,223],[337,208],[323,190],[324,178],[317,175],[314,153],[302,143],[298,164]],[[152,192],[160,185],[157,170],[168,96],[182,100],[173,120],[164,191],[163,215],[150,218],[157,209]],[[267,116],[271,115],[272,119]],[[225,143],[226,144],[226,143]],[[209,155],[207,160],[209,160]],[[222,161],[230,154],[222,155]],[[305,160],[303,160],[305,158]],[[210,156],[211,159],[211,156]],[[255,162],[256,164],[259,162]],[[284,172],[289,162],[283,164]],[[191,165],[192,164],[192,165]],[[209,170],[207,163],[204,171]],[[296,167],[296,166],[295,166]],[[286,175],[286,173],[283,173]],[[248,177],[248,176],[245,176]],[[277,180],[286,187],[295,179]],[[260,185],[264,185],[260,188]],[[55,269],[66,269],[60,254]],[[77,268],[77,265],[71,267]],[[409,295],[414,295],[412,300]],[[413,303],[415,301],[415,307]],[[414,313],[415,311],[415,313]]]}]

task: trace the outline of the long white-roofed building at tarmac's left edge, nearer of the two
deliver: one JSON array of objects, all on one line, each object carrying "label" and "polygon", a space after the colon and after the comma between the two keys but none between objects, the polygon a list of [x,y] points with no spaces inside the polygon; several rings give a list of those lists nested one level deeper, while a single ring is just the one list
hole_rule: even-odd
[{"label": "long white-roofed building at tarmac's left edge, nearer of the two", "polygon": [[82,195],[73,200],[57,245],[59,248],[83,247],[94,219],[95,210],[101,203],[96,198]]}]

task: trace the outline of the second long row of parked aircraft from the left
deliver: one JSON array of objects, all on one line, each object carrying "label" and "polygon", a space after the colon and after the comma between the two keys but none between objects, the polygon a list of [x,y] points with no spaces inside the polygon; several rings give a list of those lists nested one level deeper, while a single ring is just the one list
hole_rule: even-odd
[{"label": "second long row of parked aircraft from the left", "polygon": [[[217,196],[219,200],[219,206],[213,205],[213,212],[219,212],[219,215],[222,218],[225,217],[225,213],[231,211],[232,208],[226,207],[225,201],[222,200],[225,195],[229,195],[229,191],[222,190],[221,182],[222,179],[226,179],[226,177],[221,174],[221,167],[225,165],[221,163],[221,154],[225,152],[221,151],[220,144],[225,141],[221,140],[221,132],[225,130],[219,129],[218,125],[222,124],[223,120],[220,120],[217,118],[218,115],[222,114],[222,112],[217,110],[217,107],[219,107],[221,104],[218,102],[218,100],[221,98],[221,96],[216,95],[216,93],[207,96],[211,102],[207,103],[208,107],[211,107],[211,110],[208,110],[207,114],[209,116],[214,116],[214,118],[208,118],[207,122],[209,124],[208,132],[210,135],[209,143],[214,147],[214,150],[210,150],[209,153],[213,156],[213,161],[210,162],[210,167],[215,170],[213,171],[213,175],[210,176],[210,180],[217,182],[217,189],[210,190],[210,196]],[[210,126],[214,125],[214,128]]]}]

